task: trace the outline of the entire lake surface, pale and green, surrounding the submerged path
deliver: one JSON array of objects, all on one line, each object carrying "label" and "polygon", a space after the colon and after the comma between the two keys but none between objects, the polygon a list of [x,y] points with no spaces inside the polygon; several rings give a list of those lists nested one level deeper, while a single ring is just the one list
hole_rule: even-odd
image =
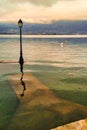
[{"label": "entire lake surface, pale and green, surrounding the submerged path", "polygon": [[[1,129],[6,129],[11,122],[19,103],[7,80],[8,75],[20,73],[19,40],[19,36],[0,36]],[[46,86],[56,90],[60,98],[87,104],[87,93],[84,93],[87,91],[87,36],[23,36],[23,57],[24,72],[36,74]]]}]

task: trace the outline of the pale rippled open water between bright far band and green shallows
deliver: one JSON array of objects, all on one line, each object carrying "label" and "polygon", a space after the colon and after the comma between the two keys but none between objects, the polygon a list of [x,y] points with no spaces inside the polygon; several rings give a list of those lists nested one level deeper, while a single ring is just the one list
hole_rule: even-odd
[{"label": "pale rippled open water between bright far band and green shallows", "polygon": [[[0,36],[0,62],[18,62],[19,37]],[[87,37],[23,37],[25,64],[86,66]]]}]

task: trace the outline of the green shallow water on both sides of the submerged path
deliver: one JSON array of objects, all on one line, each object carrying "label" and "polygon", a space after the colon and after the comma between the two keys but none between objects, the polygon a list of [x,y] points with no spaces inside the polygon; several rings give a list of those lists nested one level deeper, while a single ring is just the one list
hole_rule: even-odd
[{"label": "green shallow water on both sides of the submerged path", "polygon": [[[17,74],[20,70],[18,64],[10,63],[1,63],[0,69],[0,130],[6,130],[19,106],[7,76]],[[87,67],[24,65],[24,73],[29,72],[58,97],[87,106]]]}]

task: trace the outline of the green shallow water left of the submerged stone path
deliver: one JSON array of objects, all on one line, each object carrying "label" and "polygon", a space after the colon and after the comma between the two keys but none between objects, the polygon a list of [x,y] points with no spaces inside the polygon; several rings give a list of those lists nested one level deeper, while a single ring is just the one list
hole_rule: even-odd
[{"label": "green shallow water left of the submerged stone path", "polygon": [[7,80],[8,75],[17,72],[16,66],[0,64],[0,130],[7,129],[19,105],[19,100]]}]

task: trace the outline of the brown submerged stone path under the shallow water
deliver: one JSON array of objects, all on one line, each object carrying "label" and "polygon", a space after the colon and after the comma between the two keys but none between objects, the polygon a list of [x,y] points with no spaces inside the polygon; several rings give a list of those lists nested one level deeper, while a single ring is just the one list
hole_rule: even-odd
[{"label": "brown submerged stone path under the shallow water", "polygon": [[87,117],[87,107],[56,97],[32,74],[24,75],[25,91],[20,75],[13,75],[9,80],[20,104],[7,130],[50,130]]}]

